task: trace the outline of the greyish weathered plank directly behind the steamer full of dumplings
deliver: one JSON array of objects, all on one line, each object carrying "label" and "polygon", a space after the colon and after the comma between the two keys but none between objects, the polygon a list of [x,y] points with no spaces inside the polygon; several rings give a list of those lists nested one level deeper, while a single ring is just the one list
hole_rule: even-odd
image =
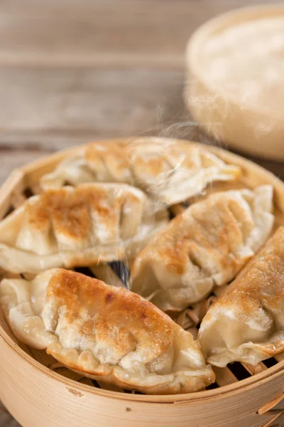
[{"label": "greyish weathered plank directly behind the steamer full of dumplings", "polygon": [[49,150],[165,132],[184,110],[182,85],[173,70],[0,68],[0,143]]}]

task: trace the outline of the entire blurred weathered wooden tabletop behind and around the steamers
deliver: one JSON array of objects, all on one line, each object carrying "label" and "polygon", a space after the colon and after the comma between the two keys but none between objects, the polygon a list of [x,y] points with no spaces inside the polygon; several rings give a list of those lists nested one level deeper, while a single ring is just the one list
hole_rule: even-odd
[{"label": "entire blurred weathered wooden tabletop behind and around the steamers", "polygon": [[[2,0],[0,184],[21,164],[92,139],[208,142],[182,102],[185,44],[212,16],[259,3]],[[256,162],[284,177],[283,164]],[[0,427],[16,426],[0,404]]]}]

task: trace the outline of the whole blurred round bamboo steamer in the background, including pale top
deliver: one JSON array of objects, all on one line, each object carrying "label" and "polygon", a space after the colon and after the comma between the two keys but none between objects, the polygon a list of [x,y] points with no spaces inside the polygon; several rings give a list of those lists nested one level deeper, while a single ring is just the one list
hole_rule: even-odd
[{"label": "whole blurred round bamboo steamer in the background, including pale top", "polygon": [[238,9],[204,23],[186,51],[185,102],[230,147],[284,160],[284,6]]}]

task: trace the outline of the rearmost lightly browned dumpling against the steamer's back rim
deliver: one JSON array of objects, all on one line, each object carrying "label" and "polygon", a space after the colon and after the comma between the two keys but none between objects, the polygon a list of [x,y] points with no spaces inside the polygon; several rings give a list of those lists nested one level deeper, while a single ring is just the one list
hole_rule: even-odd
[{"label": "rearmost lightly browned dumpling against the steamer's back rim", "polygon": [[90,144],[43,176],[40,184],[47,189],[65,182],[125,182],[146,191],[160,206],[188,199],[213,181],[232,181],[239,174],[239,167],[225,164],[197,144],[152,137]]}]

